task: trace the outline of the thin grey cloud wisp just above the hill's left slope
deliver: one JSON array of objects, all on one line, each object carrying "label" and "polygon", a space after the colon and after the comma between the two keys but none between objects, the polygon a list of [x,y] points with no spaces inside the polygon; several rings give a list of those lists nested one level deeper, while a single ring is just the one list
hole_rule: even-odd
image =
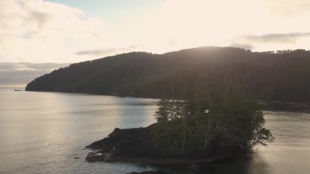
[{"label": "thin grey cloud wisp just above the hill's left slope", "polygon": [[131,45],[126,48],[108,48],[108,49],[97,49],[97,50],[85,50],[85,51],[77,51],[74,52],[76,55],[95,55],[95,56],[100,56],[100,55],[106,55],[106,54],[111,54],[115,52],[121,52],[121,51],[130,51],[132,49],[138,48],[139,45]]}]

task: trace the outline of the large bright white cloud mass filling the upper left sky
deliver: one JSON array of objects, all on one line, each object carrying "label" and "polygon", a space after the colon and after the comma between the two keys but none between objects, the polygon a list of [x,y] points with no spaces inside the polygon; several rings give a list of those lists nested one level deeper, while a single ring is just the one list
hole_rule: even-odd
[{"label": "large bright white cloud mass filling the upper left sky", "polygon": [[0,1],[0,26],[0,62],[74,63],[89,59],[76,50],[132,45],[101,19],[43,0]]}]

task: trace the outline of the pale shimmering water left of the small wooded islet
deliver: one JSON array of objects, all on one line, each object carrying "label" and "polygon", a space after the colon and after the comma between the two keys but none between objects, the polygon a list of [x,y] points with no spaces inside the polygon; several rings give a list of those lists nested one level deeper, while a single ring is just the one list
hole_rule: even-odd
[{"label": "pale shimmering water left of the small wooded islet", "polygon": [[153,123],[153,117],[145,114],[153,114],[157,100],[1,89],[0,96],[0,173],[126,173],[153,169],[148,165],[87,163],[84,157],[88,151],[83,148],[106,137],[115,127]]}]

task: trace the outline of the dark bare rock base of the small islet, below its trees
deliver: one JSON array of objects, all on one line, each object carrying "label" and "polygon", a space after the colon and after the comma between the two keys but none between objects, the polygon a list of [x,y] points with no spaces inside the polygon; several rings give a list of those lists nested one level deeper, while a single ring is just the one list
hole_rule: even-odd
[{"label": "dark bare rock base of the small islet, below its trees", "polygon": [[[154,124],[153,124],[154,125]],[[145,128],[119,129],[116,128],[108,137],[95,141],[86,148],[92,150],[85,158],[88,162],[131,162],[147,164],[203,164],[244,153],[239,144],[229,147],[183,153],[159,149],[154,143],[150,125]]]}]

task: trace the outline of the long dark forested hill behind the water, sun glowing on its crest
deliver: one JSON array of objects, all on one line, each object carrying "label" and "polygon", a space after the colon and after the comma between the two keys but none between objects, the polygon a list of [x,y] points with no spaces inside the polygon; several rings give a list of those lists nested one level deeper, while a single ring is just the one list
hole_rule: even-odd
[{"label": "long dark forested hill behind the water, sun glowing on its crest", "polygon": [[131,52],[71,64],[30,82],[27,91],[183,99],[201,81],[222,82],[267,101],[310,102],[310,51],[252,52],[198,47],[164,54]]}]

